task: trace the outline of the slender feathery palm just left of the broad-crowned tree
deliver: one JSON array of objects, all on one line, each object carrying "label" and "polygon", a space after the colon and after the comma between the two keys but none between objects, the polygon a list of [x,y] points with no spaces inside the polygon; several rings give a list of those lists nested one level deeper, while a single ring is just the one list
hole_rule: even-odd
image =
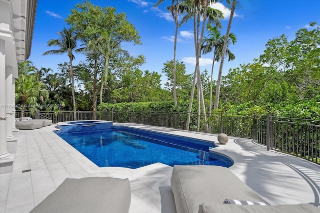
[{"label": "slender feathery palm just left of the broad-crowned tree", "polygon": [[73,120],[76,120],[76,109],[75,109],[75,96],[74,96],[74,77],[73,77],[73,68],[72,68],[72,60],[74,59],[73,51],[80,51],[76,48],[76,36],[74,35],[74,31],[70,29],[66,29],[63,27],[63,30],[58,32],[60,37],[58,39],[50,39],[47,43],[48,46],[58,46],[59,49],[48,50],[44,52],[42,55],[48,54],[64,54],[67,53],[69,57],[69,78],[71,79],[71,89],[72,89],[72,102],[73,102]]}]

